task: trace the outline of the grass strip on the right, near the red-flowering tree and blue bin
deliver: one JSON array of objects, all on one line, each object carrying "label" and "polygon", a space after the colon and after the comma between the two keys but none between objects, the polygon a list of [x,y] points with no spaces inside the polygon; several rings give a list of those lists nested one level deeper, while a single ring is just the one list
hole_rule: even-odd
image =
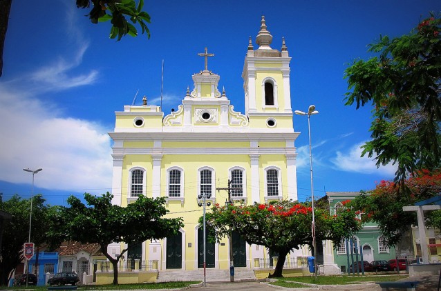
[{"label": "grass strip on the right, near the red-flowering tree and blue bin", "polygon": [[409,276],[400,275],[380,275],[380,276],[319,276],[317,280],[313,276],[305,277],[290,277],[290,278],[276,278],[279,281],[292,281],[317,285],[345,285],[363,282],[382,282],[382,281],[397,281]]}]

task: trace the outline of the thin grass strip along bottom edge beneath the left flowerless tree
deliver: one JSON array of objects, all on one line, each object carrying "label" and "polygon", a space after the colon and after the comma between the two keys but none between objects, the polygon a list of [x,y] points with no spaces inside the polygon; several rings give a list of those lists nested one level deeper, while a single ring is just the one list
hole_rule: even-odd
[{"label": "thin grass strip along bottom edge beneath the left flowerless tree", "polygon": [[[191,284],[198,284],[201,281],[176,281],[176,282],[160,282],[160,283],[139,283],[139,284],[120,284],[120,285],[78,285],[77,290],[149,290],[149,289],[178,289],[185,288]],[[8,290],[21,290],[23,287],[11,287]],[[28,290],[48,290],[47,286],[28,286]]]}]

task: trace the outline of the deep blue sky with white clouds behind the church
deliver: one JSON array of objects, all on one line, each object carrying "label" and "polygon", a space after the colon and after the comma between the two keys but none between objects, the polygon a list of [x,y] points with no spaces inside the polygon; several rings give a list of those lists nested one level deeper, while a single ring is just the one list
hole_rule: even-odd
[{"label": "deep blue sky with white clouds behind the church", "polygon": [[[370,137],[370,108],[344,106],[344,70],[354,59],[373,57],[367,45],[380,34],[409,33],[438,0],[371,1],[145,1],[151,39],[145,34],[109,39],[110,23],[92,24],[73,0],[15,0],[12,3],[0,78],[0,192],[52,205],[69,194],[101,194],[111,189],[111,140],[115,111],[142,102],[168,114],[185,97],[191,75],[203,70],[205,46],[215,57],[209,70],[220,75],[234,110],[244,112],[243,61],[248,38],[255,45],[261,15],[273,36],[285,43],[291,61],[293,110],[314,104],[311,117],[315,197],[325,191],[375,188],[393,179],[393,165],[377,169],[359,146]],[[138,26],[139,28],[139,26]],[[308,121],[294,115],[301,132],[297,183],[299,200],[310,197]]]}]

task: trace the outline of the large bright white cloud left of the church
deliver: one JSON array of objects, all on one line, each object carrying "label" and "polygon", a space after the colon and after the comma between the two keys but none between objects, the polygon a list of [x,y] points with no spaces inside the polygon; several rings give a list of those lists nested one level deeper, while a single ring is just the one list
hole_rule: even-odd
[{"label": "large bright white cloud left of the church", "polygon": [[111,188],[111,143],[102,126],[60,118],[56,108],[1,83],[0,92],[0,180],[30,183],[22,169],[43,168],[35,179],[41,188]]}]

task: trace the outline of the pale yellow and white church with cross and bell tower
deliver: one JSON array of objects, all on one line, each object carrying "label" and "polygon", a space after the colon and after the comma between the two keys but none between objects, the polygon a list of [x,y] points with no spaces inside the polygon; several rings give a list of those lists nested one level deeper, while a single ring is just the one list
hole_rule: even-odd
[{"label": "pale yellow and white church with cross and bell tower", "polygon": [[[290,60],[282,39],[281,50],[271,48],[272,35],[265,18],[247,48],[243,66],[245,113],[234,111],[220,76],[205,68],[193,74],[178,110],[165,115],[159,106],[124,106],[115,112],[113,139],[113,203],[127,205],[138,195],[166,197],[167,217],[182,217],[178,235],[133,246],[129,258],[158,261],[160,270],[197,270],[203,267],[203,208],[199,195],[223,205],[248,205],[271,200],[297,200],[296,148],[290,94]],[[220,189],[223,188],[223,189]],[[230,188],[230,190],[226,190]],[[209,208],[207,208],[209,211]],[[248,245],[237,235],[207,243],[207,268],[229,268],[229,248],[236,267],[254,268],[271,259],[268,250]],[[121,246],[109,246],[119,254]],[[292,257],[305,257],[298,250]]]}]

